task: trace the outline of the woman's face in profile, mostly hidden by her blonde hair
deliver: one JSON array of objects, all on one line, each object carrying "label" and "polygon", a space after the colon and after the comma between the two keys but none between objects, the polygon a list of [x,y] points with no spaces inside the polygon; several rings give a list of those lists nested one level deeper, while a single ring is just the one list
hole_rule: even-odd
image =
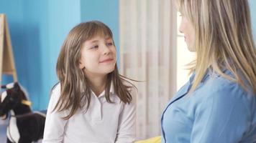
[{"label": "woman's face in profile, mostly hidden by her blonde hair", "polygon": [[180,33],[184,34],[184,39],[186,41],[186,44],[188,46],[189,51],[196,51],[196,49],[193,47],[195,42],[195,31],[193,29],[193,26],[190,21],[186,18],[186,16],[181,17],[180,22]]}]

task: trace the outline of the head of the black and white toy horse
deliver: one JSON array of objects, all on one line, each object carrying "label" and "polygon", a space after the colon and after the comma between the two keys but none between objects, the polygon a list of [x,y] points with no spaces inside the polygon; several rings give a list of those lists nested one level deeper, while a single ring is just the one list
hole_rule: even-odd
[{"label": "head of the black and white toy horse", "polygon": [[0,117],[6,119],[9,111],[13,110],[14,115],[32,112],[31,102],[27,100],[26,94],[17,82],[1,86],[6,91],[0,96]]}]

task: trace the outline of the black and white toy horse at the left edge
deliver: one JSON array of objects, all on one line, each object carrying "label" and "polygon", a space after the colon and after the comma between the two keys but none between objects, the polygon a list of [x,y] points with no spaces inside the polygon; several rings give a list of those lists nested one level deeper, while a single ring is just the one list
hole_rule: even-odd
[{"label": "black and white toy horse at the left edge", "polygon": [[1,88],[6,89],[0,96],[0,117],[9,117],[7,142],[31,143],[42,139],[46,112],[32,112],[31,102],[17,82]]}]

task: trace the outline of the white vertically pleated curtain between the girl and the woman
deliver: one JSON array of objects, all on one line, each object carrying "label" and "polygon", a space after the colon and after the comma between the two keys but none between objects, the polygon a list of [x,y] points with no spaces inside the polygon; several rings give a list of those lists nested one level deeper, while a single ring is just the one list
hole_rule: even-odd
[{"label": "white vertically pleated curtain between the girl and the woman", "polygon": [[137,138],[160,135],[176,92],[176,10],[170,0],[120,0],[120,71],[136,83]]}]

